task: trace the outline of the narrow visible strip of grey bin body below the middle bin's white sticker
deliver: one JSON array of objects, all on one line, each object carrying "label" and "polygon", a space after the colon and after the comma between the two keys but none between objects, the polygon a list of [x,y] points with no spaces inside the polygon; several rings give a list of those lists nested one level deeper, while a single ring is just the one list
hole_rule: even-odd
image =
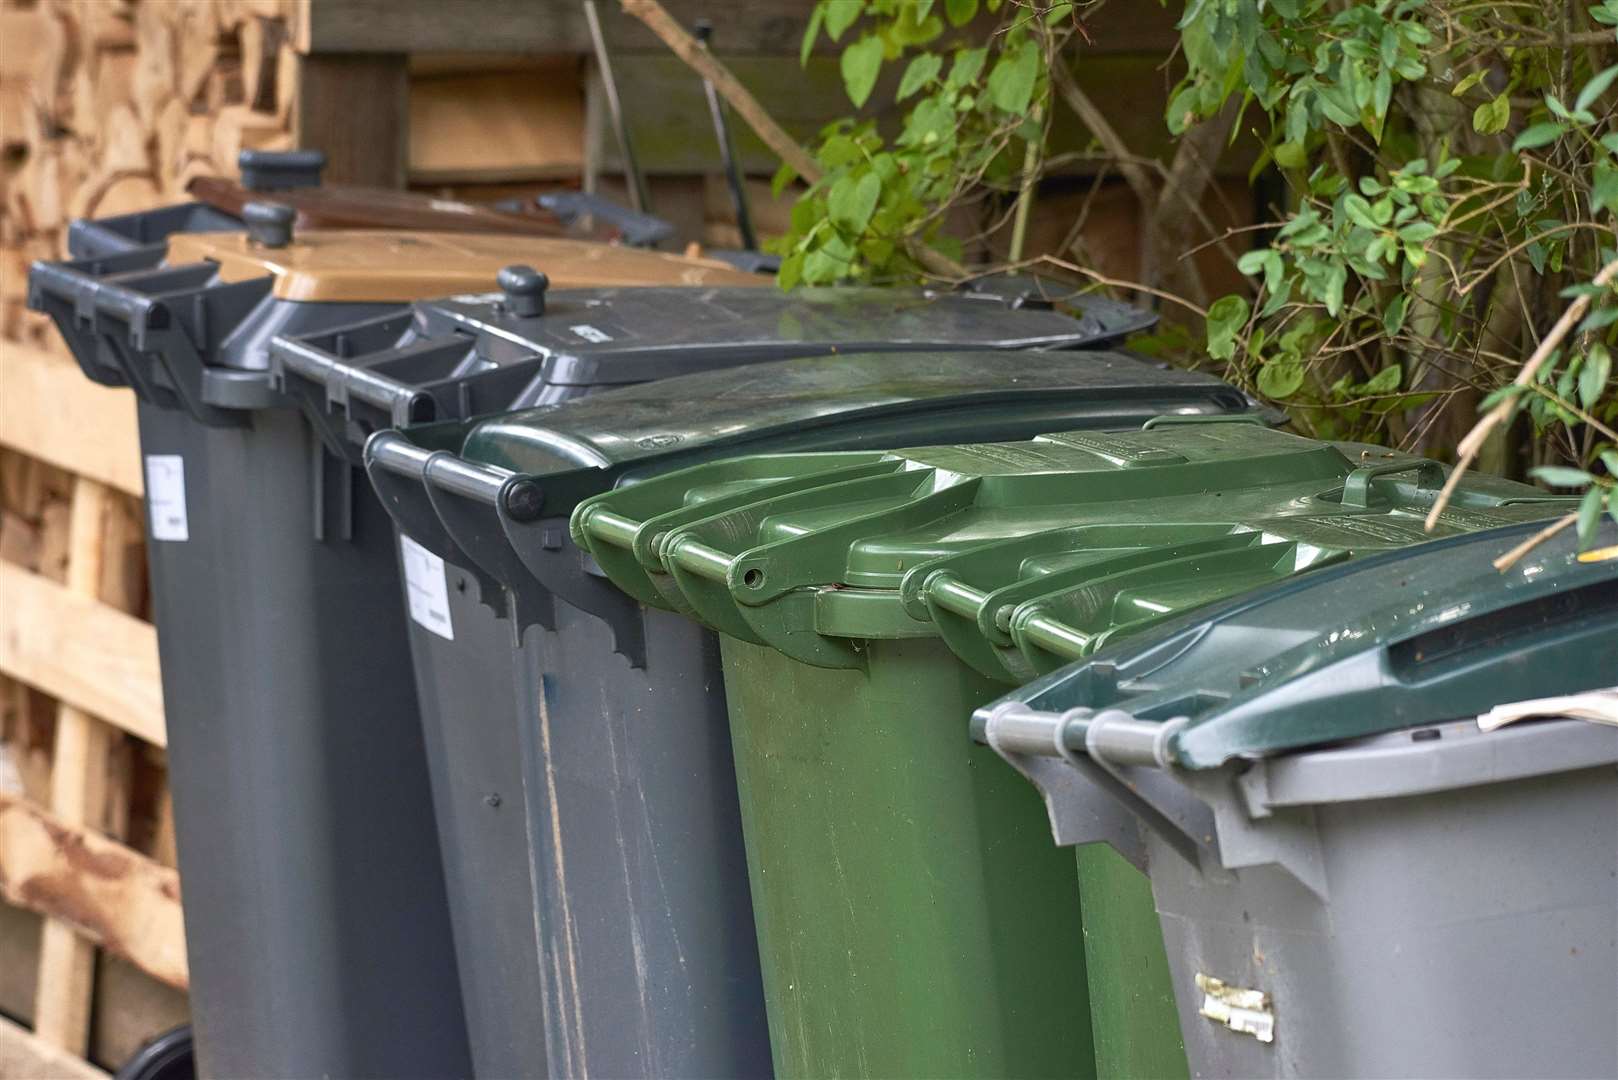
[{"label": "narrow visible strip of grey bin body below the middle bin's white sticker", "polygon": [[469,576],[445,565],[455,640],[411,620],[409,654],[472,1067],[479,1077],[518,1077],[545,1061],[519,725],[492,708],[466,708],[510,701],[516,667],[511,623],[477,599]]}]

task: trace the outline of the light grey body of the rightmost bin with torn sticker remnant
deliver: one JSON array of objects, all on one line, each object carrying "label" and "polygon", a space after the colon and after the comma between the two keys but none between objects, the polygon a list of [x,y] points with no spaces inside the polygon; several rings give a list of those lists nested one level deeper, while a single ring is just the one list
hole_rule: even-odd
[{"label": "light grey body of the rightmost bin with torn sticker remnant", "polygon": [[[1149,839],[1196,1075],[1618,1075],[1615,806],[1607,764],[1299,810],[1328,900]],[[1197,972],[1267,991],[1275,1041],[1197,1015]]]}]

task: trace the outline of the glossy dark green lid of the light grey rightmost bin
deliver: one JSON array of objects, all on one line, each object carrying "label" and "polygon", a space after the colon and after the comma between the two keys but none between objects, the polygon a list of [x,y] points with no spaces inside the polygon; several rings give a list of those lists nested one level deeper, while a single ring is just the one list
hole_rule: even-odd
[{"label": "glossy dark green lid of the light grey rightmost bin", "polygon": [[984,706],[974,735],[1024,706],[1018,751],[1084,753],[1105,714],[1110,730],[1141,727],[1115,745],[1154,746],[1158,729],[1155,764],[1212,769],[1612,687],[1618,526],[1586,555],[1569,529],[1497,570],[1535,529],[1383,552],[1186,615]]}]

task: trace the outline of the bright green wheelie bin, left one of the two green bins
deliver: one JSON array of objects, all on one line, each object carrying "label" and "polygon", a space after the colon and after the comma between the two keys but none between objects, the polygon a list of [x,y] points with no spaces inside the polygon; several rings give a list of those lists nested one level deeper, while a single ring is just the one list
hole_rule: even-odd
[{"label": "bright green wheelie bin, left one of the two green bins", "polygon": [[[1361,453],[1230,419],[1160,423],[887,455],[743,457],[578,507],[573,536],[615,583],[720,631],[780,1075],[1184,1069],[1162,1009],[1136,1017],[1107,1002],[1165,999],[1167,986],[1141,986],[1160,965],[1086,978],[1073,907],[1084,910],[1089,882],[1074,887],[1071,861],[1052,860],[1039,803],[1016,777],[959,727],[951,737],[950,717],[997,687],[956,662],[917,599],[935,563],[1078,525],[1095,529],[1079,560],[1150,557],[1170,570],[1209,533],[1262,538],[1311,518],[1359,528],[1336,533],[1341,547],[1270,544],[1273,575],[1408,542],[1440,466],[1400,460],[1414,484],[1391,461],[1358,466]],[[1463,484],[1477,521],[1548,513],[1508,505],[1534,494]],[[1128,623],[1125,607],[1158,599],[1144,591],[1113,607],[1097,593],[1068,630],[1091,633],[1108,610]],[[1131,1025],[1107,1033],[1102,1061],[1092,1012]]]}]

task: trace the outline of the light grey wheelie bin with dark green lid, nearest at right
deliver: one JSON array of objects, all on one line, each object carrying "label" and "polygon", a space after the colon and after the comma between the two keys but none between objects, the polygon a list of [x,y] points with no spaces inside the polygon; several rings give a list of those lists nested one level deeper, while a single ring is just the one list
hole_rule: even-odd
[{"label": "light grey wheelie bin with dark green lid, nearest at right", "polygon": [[[1328,567],[972,717],[1058,844],[1147,870],[1201,1077],[1618,1075],[1618,528]],[[1492,725],[1490,725],[1492,727]]]}]

